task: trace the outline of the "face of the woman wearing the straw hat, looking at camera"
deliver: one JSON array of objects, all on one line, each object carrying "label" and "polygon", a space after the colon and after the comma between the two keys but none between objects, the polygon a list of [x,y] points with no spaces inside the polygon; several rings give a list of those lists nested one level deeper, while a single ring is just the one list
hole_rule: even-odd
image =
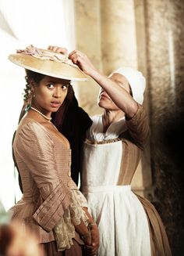
[{"label": "face of the woman wearing the straw hat, looking at camera", "polygon": [[56,112],[67,95],[69,80],[45,76],[38,85],[34,85],[32,105],[43,114]]}]

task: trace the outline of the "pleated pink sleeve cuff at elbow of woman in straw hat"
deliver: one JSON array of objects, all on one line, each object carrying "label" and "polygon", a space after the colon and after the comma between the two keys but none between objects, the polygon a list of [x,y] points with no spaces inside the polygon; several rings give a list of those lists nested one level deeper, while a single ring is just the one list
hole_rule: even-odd
[{"label": "pleated pink sleeve cuff at elbow of woman in straw hat", "polygon": [[71,202],[71,193],[63,184],[58,184],[52,193],[44,200],[33,218],[43,229],[50,232],[64,215]]}]

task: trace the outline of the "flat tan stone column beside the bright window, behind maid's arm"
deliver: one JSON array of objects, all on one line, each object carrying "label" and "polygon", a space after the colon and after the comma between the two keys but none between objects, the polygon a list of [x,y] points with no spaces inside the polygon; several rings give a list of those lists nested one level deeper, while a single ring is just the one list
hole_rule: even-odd
[{"label": "flat tan stone column beside the bright window, behind maid's arm", "polygon": [[[102,70],[101,62],[101,13],[100,0],[76,0],[76,49],[85,52],[98,70]],[[87,82],[77,83],[75,91],[80,105],[88,114],[100,114],[97,106],[99,86],[89,78]]]}]

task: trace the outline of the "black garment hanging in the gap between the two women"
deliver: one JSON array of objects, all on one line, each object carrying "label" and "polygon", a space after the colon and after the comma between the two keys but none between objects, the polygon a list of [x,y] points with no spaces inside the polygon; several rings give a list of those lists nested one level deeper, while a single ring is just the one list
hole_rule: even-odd
[{"label": "black garment hanging in the gap between the two women", "polygon": [[86,138],[86,131],[90,128],[92,121],[88,114],[78,105],[76,97],[65,102],[66,106],[53,113],[52,123],[58,131],[69,140],[72,150],[72,178],[78,184],[80,172],[80,153]]}]

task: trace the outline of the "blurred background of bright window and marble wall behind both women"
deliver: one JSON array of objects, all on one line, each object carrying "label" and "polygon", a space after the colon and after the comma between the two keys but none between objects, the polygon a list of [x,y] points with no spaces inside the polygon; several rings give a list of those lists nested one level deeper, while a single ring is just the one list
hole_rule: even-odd
[{"label": "blurred background of bright window and marble wall behind both women", "polygon": [[[132,186],[160,213],[173,255],[184,255],[183,27],[183,0],[0,0],[0,198],[6,209],[21,196],[11,141],[25,85],[23,70],[7,56],[30,44],[79,49],[104,74],[127,65],[147,78],[151,138]],[[100,114],[98,85],[89,79],[74,87],[80,106]]]}]

